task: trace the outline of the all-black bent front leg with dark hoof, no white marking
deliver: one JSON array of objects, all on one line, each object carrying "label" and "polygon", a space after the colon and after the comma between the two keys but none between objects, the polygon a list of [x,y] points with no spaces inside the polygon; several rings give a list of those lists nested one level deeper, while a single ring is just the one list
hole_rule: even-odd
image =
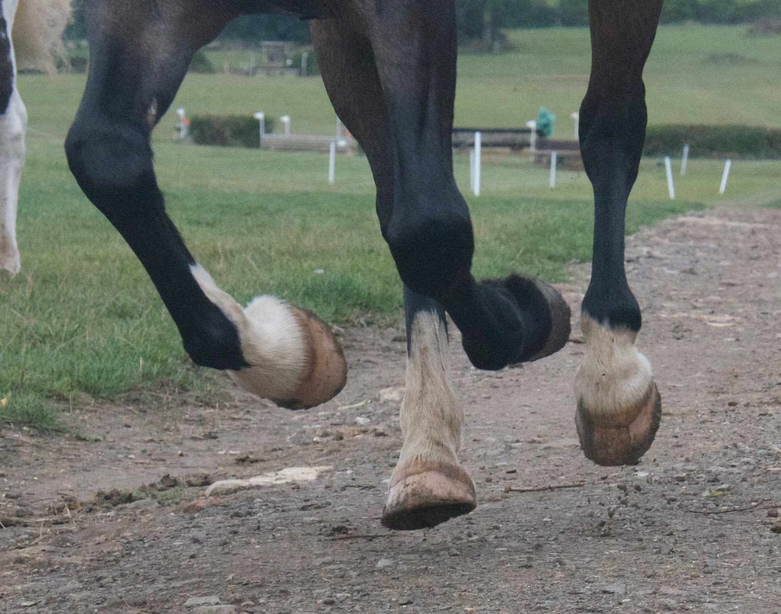
[{"label": "all-black bent front leg with dark hoof, no white marking", "polygon": [[393,198],[378,201],[378,214],[402,281],[444,307],[475,367],[554,353],[569,338],[569,307],[555,289],[519,275],[477,282],[470,272],[472,222],[452,164],[452,2],[405,0],[374,17],[369,40],[394,151]]}]

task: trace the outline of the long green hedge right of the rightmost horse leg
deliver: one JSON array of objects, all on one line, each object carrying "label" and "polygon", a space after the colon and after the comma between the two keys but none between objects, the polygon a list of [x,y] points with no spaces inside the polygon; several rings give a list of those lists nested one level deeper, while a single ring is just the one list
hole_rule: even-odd
[{"label": "long green hedge right of the rightmost horse leg", "polygon": [[648,126],[644,154],[697,158],[781,158],[781,128],[761,126]]}]

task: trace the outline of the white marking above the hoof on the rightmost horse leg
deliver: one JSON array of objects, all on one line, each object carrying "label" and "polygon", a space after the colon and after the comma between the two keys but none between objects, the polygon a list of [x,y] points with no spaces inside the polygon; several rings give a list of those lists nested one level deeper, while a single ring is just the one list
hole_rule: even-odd
[{"label": "white marking above the hoof on the rightmost horse leg", "polygon": [[580,326],[586,355],[575,377],[577,398],[594,421],[620,421],[622,413],[636,408],[647,395],[653,381],[651,364],[637,351],[637,333],[629,328],[614,330],[587,314],[581,314]]}]

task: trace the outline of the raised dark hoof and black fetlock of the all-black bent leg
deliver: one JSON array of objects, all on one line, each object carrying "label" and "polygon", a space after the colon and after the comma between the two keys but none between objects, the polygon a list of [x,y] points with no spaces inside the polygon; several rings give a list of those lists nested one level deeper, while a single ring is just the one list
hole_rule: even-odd
[{"label": "raised dark hoof and black fetlock of the all-black bent leg", "polygon": [[496,321],[493,338],[463,336],[464,350],[475,367],[497,370],[550,356],[564,347],[570,311],[555,288],[528,275],[486,279],[479,286]]}]

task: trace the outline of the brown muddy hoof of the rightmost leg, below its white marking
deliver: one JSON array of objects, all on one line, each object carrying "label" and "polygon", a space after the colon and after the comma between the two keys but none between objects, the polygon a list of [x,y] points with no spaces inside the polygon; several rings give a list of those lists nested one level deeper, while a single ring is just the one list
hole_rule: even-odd
[{"label": "brown muddy hoof of the rightmost leg, below its white marking", "polygon": [[651,382],[640,403],[620,414],[599,414],[578,403],[575,423],[587,459],[604,467],[633,465],[651,447],[662,419],[662,397]]}]

